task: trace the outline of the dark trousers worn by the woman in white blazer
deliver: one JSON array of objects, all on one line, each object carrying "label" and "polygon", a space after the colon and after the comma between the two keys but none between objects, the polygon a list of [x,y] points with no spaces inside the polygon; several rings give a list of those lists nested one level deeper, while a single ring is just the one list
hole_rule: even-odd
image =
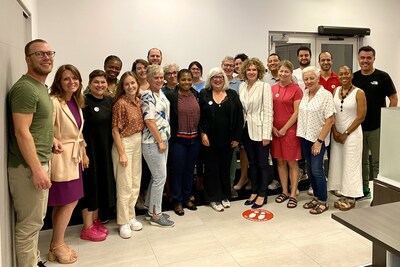
[{"label": "dark trousers worn by the woman in white blazer", "polygon": [[267,186],[272,180],[272,171],[268,165],[269,147],[262,145],[262,141],[253,141],[249,137],[247,126],[243,130],[243,145],[249,159],[249,178],[253,187],[253,194],[260,197],[267,196]]}]

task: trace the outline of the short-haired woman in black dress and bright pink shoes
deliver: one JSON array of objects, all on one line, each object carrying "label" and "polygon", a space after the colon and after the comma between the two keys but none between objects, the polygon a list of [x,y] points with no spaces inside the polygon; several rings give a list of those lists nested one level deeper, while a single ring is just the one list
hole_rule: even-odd
[{"label": "short-haired woman in black dress and bright pink shoes", "polygon": [[84,166],[83,172],[81,238],[102,241],[107,237],[108,229],[103,226],[99,216],[108,219],[109,210],[115,206],[115,180],[111,159],[113,100],[105,95],[107,80],[104,71],[94,70],[90,73],[89,89],[90,93],[85,95],[86,107],[83,109],[83,136],[90,162]]}]

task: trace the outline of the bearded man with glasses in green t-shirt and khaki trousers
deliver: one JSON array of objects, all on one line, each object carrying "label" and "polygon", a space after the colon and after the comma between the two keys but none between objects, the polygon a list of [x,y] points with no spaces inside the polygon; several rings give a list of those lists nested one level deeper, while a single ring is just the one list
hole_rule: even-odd
[{"label": "bearded man with glasses in green t-shirt and khaki trousers", "polygon": [[[55,52],[41,39],[25,46],[28,72],[8,94],[8,182],[16,213],[15,251],[18,266],[44,266],[38,250],[51,181],[53,105],[45,84]],[[54,148],[62,151],[62,148]]]}]

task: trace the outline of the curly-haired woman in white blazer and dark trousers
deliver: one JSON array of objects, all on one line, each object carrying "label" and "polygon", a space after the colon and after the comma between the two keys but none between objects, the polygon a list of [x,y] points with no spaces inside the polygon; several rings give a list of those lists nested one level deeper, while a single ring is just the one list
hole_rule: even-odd
[{"label": "curly-haired woman in white blazer and dark trousers", "polygon": [[244,82],[239,87],[243,106],[243,145],[249,159],[249,178],[253,189],[245,205],[253,209],[267,203],[267,186],[272,173],[268,166],[269,143],[271,141],[273,110],[271,86],[262,82],[265,67],[257,58],[243,62],[240,69]]}]

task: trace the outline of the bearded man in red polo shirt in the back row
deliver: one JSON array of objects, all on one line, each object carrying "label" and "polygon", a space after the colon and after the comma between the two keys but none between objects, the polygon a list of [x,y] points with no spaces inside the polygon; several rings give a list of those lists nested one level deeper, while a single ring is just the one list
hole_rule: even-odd
[{"label": "bearded man in red polo shirt in the back row", "polygon": [[331,53],[321,52],[318,56],[318,63],[321,67],[319,84],[333,94],[335,88],[342,84],[340,83],[336,73],[332,71],[333,61]]}]

